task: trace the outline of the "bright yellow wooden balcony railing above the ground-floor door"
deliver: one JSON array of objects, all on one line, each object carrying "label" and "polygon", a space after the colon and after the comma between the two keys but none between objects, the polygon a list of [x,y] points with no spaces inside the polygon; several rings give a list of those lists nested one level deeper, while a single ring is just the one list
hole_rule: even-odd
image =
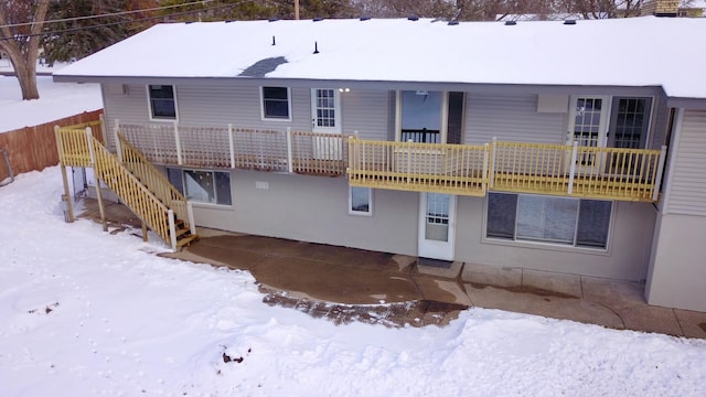
[{"label": "bright yellow wooden balcony railing above the ground-floor door", "polygon": [[486,190],[657,200],[662,150],[495,141],[485,146],[349,139],[349,183],[484,195]]}]

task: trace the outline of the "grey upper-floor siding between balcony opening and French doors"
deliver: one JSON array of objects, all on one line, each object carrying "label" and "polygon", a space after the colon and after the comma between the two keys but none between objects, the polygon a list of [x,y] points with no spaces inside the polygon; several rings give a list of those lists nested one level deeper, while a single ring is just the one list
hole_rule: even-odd
[{"label": "grey upper-floor siding between balcony opening and French doors", "polygon": [[566,142],[566,114],[537,112],[536,94],[467,95],[464,143]]}]

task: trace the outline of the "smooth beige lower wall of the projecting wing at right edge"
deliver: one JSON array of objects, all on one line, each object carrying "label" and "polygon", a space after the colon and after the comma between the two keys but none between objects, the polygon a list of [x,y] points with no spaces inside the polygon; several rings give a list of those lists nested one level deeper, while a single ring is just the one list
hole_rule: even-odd
[{"label": "smooth beige lower wall of the projecting wing at right edge", "polygon": [[706,311],[706,216],[660,215],[645,298],[667,308]]}]

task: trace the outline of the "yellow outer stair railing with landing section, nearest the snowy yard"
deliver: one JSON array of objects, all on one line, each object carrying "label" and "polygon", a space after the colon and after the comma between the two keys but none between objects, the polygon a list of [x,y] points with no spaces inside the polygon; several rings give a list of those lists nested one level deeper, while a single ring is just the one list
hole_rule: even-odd
[{"label": "yellow outer stair railing with landing section, nearest the snowy yard", "polygon": [[97,140],[90,128],[56,128],[62,165],[93,168],[96,175],[150,229],[172,249],[176,249],[174,213],[150,192],[120,161]]}]

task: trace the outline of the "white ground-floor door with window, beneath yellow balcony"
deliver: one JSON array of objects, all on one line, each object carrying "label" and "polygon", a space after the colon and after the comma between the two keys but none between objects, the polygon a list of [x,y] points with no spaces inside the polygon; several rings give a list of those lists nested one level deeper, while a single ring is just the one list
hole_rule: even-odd
[{"label": "white ground-floor door with window, beneath yellow balcony", "polygon": [[418,255],[452,260],[456,236],[456,196],[420,193]]}]

